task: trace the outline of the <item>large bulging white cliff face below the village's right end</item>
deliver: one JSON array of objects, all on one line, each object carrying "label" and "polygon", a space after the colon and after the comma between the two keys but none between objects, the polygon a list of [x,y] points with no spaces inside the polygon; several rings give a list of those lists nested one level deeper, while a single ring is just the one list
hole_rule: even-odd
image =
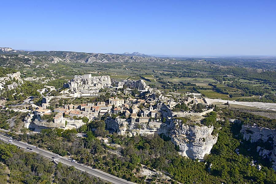
[{"label": "large bulging white cliff face below the village's right end", "polygon": [[213,145],[217,142],[217,135],[212,135],[213,126],[188,126],[174,121],[175,126],[171,132],[171,140],[179,146],[182,156],[203,160],[210,154]]}]

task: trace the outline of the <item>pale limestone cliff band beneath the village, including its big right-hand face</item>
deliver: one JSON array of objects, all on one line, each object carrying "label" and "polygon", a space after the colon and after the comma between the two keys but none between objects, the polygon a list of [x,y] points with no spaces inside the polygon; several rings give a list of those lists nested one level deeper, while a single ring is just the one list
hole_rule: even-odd
[{"label": "pale limestone cliff band beneath the village, including its big right-hand face", "polygon": [[[181,120],[172,117],[171,110],[164,103],[156,104],[158,118],[166,117],[166,122],[149,121],[140,122],[137,116],[130,119],[120,118],[107,119],[107,129],[120,135],[133,136],[151,135],[164,133],[179,147],[179,154],[192,159],[203,160],[206,154],[210,154],[213,145],[217,142],[218,135],[213,135],[213,126],[185,125]],[[139,121],[137,121],[139,119]]]}]

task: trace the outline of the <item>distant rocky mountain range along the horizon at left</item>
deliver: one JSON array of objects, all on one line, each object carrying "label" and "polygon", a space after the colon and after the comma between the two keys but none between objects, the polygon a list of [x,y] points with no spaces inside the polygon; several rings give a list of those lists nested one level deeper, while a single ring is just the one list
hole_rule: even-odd
[{"label": "distant rocky mountain range along the horizon at left", "polygon": [[14,50],[9,47],[0,47],[1,66],[17,65],[30,66],[39,65],[47,66],[58,62],[81,62],[81,63],[111,63],[111,62],[167,62],[167,59],[160,59],[146,54],[133,52],[132,54],[102,54],[102,53],[85,53],[69,51],[26,51]]}]

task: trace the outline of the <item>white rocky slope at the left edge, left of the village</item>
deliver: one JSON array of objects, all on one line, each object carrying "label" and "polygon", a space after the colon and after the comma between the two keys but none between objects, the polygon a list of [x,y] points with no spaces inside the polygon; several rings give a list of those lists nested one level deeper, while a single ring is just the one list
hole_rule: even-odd
[{"label": "white rocky slope at the left edge, left of the village", "polygon": [[[7,85],[7,89],[11,90],[14,88],[17,88],[17,86],[23,84],[23,80],[20,77],[21,73],[16,72],[16,73],[9,73],[6,75],[6,77],[0,77],[0,90],[6,89],[5,84],[8,81],[12,81],[11,84]],[[16,81],[13,81],[16,80]]]}]

